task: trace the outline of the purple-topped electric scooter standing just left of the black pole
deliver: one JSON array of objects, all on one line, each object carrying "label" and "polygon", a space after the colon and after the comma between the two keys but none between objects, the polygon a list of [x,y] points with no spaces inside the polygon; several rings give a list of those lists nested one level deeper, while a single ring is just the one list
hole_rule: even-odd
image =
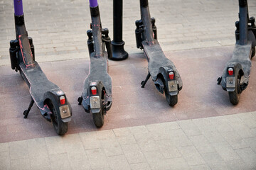
[{"label": "purple-topped electric scooter standing just left of the black pole", "polygon": [[78,98],[78,104],[82,104],[85,112],[92,113],[96,127],[100,128],[104,124],[104,115],[112,106],[112,79],[107,73],[107,58],[112,57],[112,47],[108,29],[102,29],[101,26],[97,0],[90,0],[90,15],[91,30],[87,30],[90,71],[84,81],[84,90]]}]

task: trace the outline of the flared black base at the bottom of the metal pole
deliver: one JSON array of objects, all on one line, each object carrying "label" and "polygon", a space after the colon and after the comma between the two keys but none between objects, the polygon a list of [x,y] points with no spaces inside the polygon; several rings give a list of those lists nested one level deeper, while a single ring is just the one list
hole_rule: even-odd
[{"label": "flared black base at the bottom of the metal pole", "polygon": [[122,42],[111,42],[112,44],[112,57],[110,60],[120,61],[128,58],[128,53],[124,50],[124,41]]}]

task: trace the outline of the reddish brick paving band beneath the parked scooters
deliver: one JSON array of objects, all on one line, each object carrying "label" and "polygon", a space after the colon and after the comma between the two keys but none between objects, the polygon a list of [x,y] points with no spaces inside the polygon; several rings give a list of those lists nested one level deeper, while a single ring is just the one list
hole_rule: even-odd
[{"label": "reddish brick paving band beneath the parked scooters", "polygon": [[[232,52],[233,47],[166,52],[183,80],[183,89],[174,108],[166,103],[153,81],[149,80],[144,89],[140,88],[147,74],[147,62],[142,53],[129,55],[128,60],[122,62],[110,61],[113,105],[100,129],[95,128],[92,115],[85,113],[77,102],[89,61],[68,60],[40,65],[48,79],[65,91],[73,107],[68,133],[75,133],[256,111],[255,59],[252,60],[250,84],[243,91],[238,106],[233,106],[228,92],[216,84]],[[28,118],[23,119],[22,113],[30,101],[28,86],[10,66],[0,67],[0,98],[0,142],[56,135],[36,106]]]}]

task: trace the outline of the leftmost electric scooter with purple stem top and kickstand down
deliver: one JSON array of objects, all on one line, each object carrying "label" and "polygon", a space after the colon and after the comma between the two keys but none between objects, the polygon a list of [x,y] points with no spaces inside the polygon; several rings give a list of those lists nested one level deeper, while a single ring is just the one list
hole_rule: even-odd
[{"label": "leftmost electric scooter with purple stem top and kickstand down", "polygon": [[55,132],[64,135],[72,115],[70,103],[64,92],[47,79],[35,61],[33,40],[28,37],[24,23],[22,0],[14,0],[14,11],[16,39],[10,42],[11,69],[20,72],[31,94],[31,103],[23,112],[23,118],[28,117],[33,103],[36,103],[43,118],[53,123]]}]

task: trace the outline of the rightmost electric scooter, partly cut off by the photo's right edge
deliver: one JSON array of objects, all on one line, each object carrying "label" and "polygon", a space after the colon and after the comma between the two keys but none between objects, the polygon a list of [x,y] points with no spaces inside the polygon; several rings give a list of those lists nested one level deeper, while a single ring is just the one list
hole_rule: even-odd
[{"label": "rightmost electric scooter, partly cut off by the photo's right edge", "polygon": [[218,84],[228,91],[233,105],[239,103],[240,94],[249,84],[251,59],[255,56],[255,18],[249,18],[247,0],[239,0],[239,21],[235,26],[235,50],[231,60],[225,64],[222,77],[218,78]]}]

